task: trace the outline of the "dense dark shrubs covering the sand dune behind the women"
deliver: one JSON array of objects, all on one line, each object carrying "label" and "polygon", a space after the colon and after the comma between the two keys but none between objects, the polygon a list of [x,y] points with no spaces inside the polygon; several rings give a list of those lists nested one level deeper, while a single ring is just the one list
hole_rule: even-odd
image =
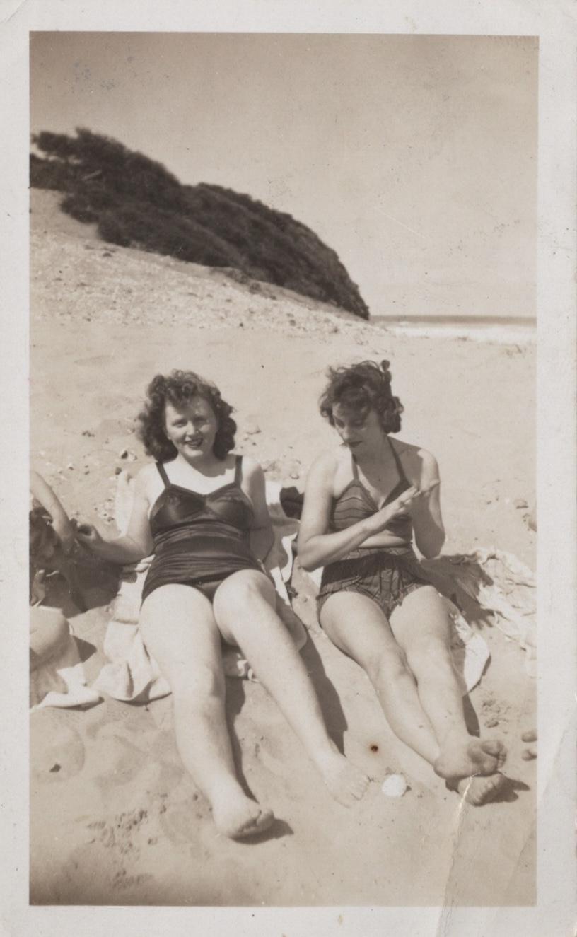
[{"label": "dense dark shrubs covering the sand dune behind the women", "polygon": [[86,128],[33,142],[45,157],[31,155],[30,185],[66,192],[64,211],[96,222],[103,240],[230,267],[368,319],[336,253],[290,215],[222,186],[182,186],[160,163]]}]

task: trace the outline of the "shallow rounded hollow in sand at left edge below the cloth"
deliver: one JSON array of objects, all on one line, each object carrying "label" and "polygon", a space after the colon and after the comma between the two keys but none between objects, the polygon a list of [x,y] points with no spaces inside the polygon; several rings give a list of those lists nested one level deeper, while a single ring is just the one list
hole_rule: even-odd
[{"label": "shallow rounded hollow in sand at left edge below the cloth", "polygon": [[82,770],[84,758],[84,743],[76,729],[52,724],[47,731],[45,724],[31,721],[30,766],[35,780],[67,781]]}]

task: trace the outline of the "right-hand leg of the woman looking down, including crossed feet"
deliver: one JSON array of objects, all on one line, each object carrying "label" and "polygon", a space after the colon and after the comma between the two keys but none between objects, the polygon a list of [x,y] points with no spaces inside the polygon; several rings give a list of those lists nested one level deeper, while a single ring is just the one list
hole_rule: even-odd
[{"label": "right-hand leg of the woman looking down, including crossed feet", "polygon": [[[498,740],[469,736],[450,647],[450,623],[436,589],[407,595],[391,616],[394,637],[417,680],[422,708],[439,746],[435,770],[471,803],[486,803],[503,783],[506,752]],[[482,777],[479,777],[482,776]]]}]

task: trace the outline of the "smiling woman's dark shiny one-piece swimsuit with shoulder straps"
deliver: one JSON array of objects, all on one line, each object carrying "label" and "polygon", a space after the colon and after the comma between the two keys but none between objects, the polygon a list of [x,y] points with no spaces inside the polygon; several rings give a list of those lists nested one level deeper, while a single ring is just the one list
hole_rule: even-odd
[{"label": "smiling woman's dark shiny one-piece swimsuit with shoulder straps", "polygon": [[142,589],[142,602],[155,588],[181,584],[212,599],[215,589],[239,570],[261,570],[250,548],[254,513],[241,488],[241,455],[234,481],[208,495],[173,484],[156,463],[164,490],[150,513],[154,557]]}]

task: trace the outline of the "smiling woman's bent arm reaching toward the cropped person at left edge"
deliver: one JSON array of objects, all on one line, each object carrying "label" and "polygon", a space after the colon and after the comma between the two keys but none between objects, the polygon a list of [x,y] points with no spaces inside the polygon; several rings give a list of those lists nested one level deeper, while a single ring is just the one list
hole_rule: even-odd
[{"label": "smiling woman's bent arm reaching toward the cropped person at left edge", "polygon": [[134,486],[134,502],[128,522],[128,529],[123,537],[107,541],[100,536],[91,524],[82,524],[77,530],[81,543],[89,547],[96,556],[108,559],[111,563],[137,563],[150,556],[153,550],[153,537],[148,520],[150,500],[148,497],[148,466],[137,476]]}]

